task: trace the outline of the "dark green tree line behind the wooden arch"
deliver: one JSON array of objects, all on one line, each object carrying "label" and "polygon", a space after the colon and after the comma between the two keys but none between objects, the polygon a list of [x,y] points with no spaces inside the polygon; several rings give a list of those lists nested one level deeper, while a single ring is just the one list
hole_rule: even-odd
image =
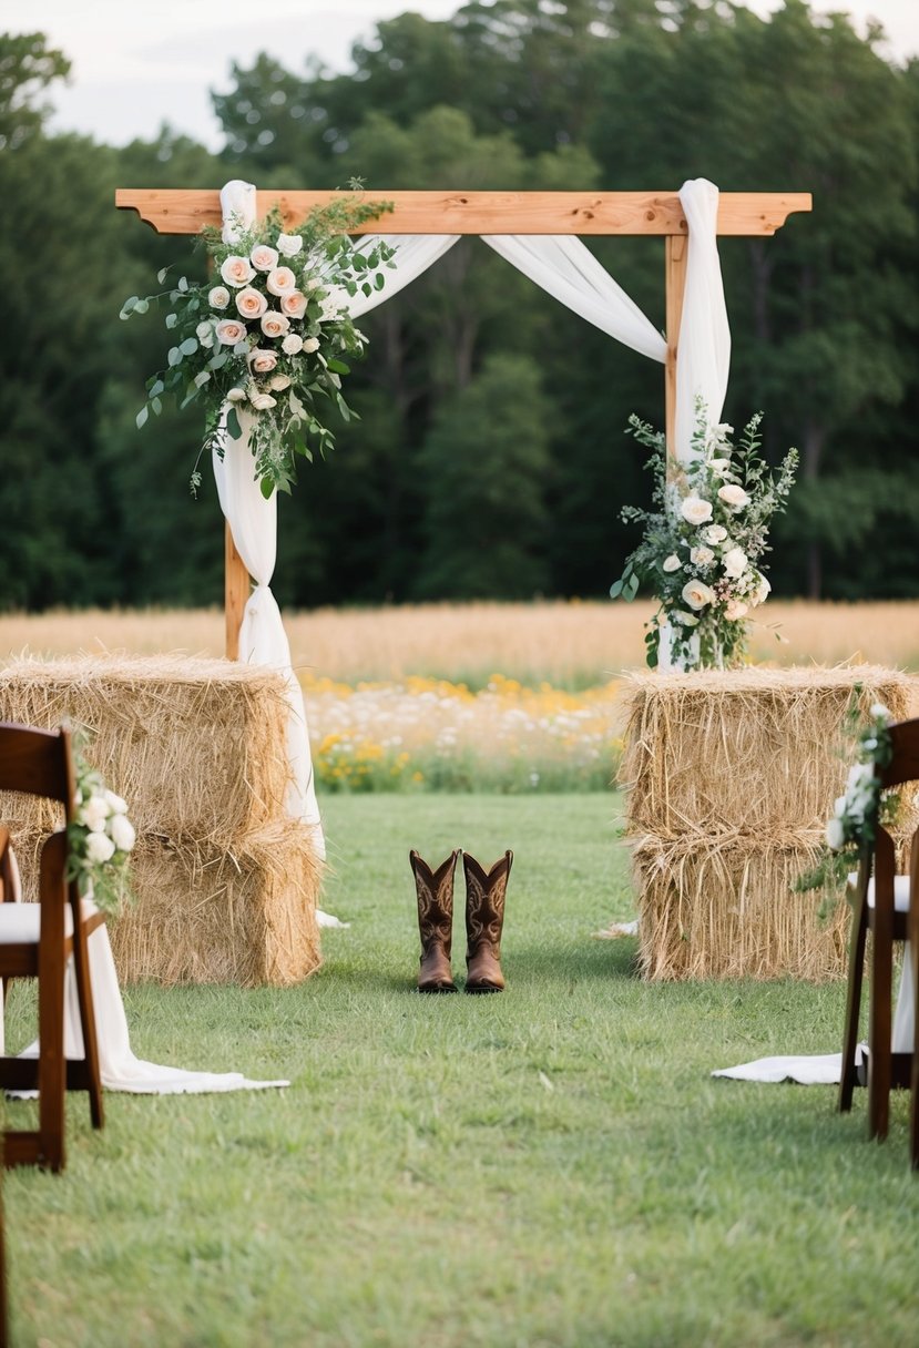
[{"label": "dark green tree line behind the wooden arch", "polygon": [[[349,74],[234,65],[213,96],[214,155],[168,125],[121,148],[50,133],[66,54],[1,35],[0,604],[220,603],[216,493],[187,491],[198,417],[136,429],[168,336],[152,313],[117,318],[160,267],[202,262],[113,194],[230,177],[811,191],[813,214],[773,239],[721,240],[725,418],[763,410],[767,457],[802,454],[773,531],[778,593],[916,594],[919,62],[887,62],[879,38],[803,0],[768,19],[695,0],[663,15],[655,0],[473,0],[380,23]],[[660,241],[590,247],[663,328]],[[662,423],[660,367],[474,239],[361,328],[361,419],[280,503],[282,603],[604,594],[635,545],[620,507],[651,485],[624,427]]]}]

